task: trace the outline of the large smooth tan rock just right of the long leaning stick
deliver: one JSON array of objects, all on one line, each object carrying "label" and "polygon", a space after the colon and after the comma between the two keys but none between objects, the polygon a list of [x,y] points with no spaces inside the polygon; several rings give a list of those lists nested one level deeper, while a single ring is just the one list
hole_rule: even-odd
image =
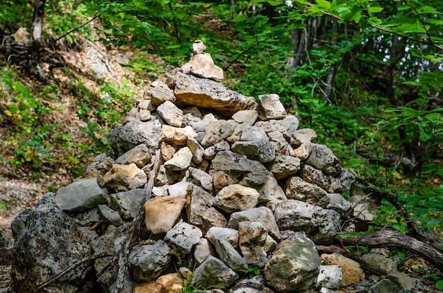
[{"label": "large smooth tan rock just right of the long leaning stick", "polygon": [[144,204],[146,229],[154,234],[168,232],[178,222],[185,203],[185,196],[151,198]]}]

